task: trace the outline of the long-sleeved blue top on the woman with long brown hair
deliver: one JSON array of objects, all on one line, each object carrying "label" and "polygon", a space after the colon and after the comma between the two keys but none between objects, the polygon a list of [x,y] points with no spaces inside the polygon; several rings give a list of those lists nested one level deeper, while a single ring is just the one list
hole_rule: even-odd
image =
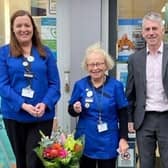
[{"label": "long-sleeved blue top on the woman with long brown hair", "polygon": [[[0,96],[1,112],[4,118],[20,122],[39,122],[50,120],[55,115],[55,104],[60,98],[60,79],[51,50],[47,47],[46,58],[42,58],[35,47],[32,47],[34,61],[31,71],[34,77],[29,81],[24,77],[23,57],[10,55],[9,45],[0,48]],[[33,98],[23,97],[22,89],[31,85]],[[42,117],[33,117],[25,112],[23,103],[36,105],[43,102],[47,110]]]}]

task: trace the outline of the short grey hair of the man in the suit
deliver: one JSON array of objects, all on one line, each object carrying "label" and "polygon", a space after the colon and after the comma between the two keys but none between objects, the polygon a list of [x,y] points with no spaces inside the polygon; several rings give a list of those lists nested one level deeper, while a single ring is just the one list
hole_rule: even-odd
[{"label": "short grey hair of the man in the suit", "polygon": [[164,27],[163,19],[160,13],[153,11],[147,13],[142,19],[142,27],[144,27],[146,20],[156,21],[162,28]]}]

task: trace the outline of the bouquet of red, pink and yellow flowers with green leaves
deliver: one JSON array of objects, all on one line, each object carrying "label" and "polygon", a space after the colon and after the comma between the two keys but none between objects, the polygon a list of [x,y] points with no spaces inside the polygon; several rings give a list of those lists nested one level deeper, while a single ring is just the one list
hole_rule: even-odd
[{"label": "bouquet of red, pink and yellow flowers with green leaves", "polygon": [[37,156],[46,168],[78,168],[82,155],[84,138],[74,139],[73,134],[65,134],[61,129],[51,137],[42,131],[39,146],[35,148]]}]

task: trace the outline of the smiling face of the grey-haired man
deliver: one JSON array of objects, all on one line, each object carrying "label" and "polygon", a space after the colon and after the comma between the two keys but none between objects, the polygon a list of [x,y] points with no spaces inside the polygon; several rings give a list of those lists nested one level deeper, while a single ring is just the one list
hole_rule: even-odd
[{"label": "smiling face of the grey-haired man", "polygon": [[157,21],[146,20],[142,28],[142,35],[149,48],[159,48],[163,39],[164,28]]}]

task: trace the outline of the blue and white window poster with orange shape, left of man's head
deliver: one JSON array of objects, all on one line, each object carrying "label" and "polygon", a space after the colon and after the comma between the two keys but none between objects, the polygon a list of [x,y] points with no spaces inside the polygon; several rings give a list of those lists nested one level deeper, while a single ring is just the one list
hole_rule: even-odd
[{"label": "blue and white window poster with orange shape, left of man's head", "polygon": [[129,55],[145,46],[142,19],[118,19],[117,60],[127,62]]}]

